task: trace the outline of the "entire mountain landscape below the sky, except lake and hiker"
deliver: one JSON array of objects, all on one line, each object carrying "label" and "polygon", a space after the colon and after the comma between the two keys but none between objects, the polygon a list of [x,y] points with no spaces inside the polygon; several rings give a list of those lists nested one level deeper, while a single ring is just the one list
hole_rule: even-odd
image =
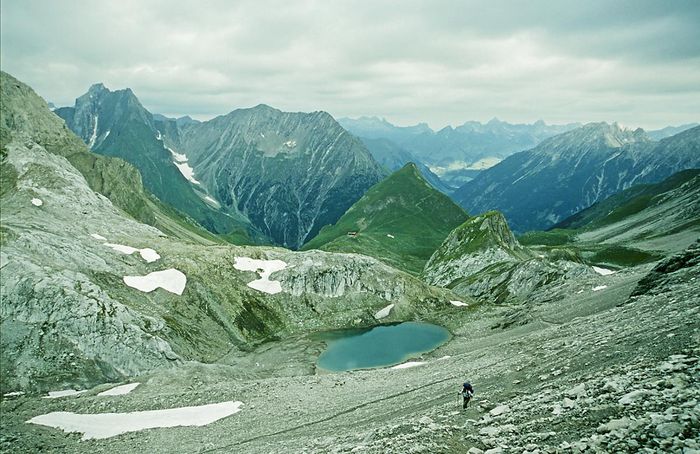
[{"label": "entire mountain landscape below the sky, except lake and hiker", "polygon": [[[699,126],[0,88],[3,452],[700,450]],[[404,322],[447,340],[317,365]]]}]

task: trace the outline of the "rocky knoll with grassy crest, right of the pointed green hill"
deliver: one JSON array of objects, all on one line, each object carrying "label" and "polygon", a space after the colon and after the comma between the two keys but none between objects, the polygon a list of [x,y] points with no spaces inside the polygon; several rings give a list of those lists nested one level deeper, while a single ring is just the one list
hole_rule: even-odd
[{"label": "rocky knoll with grassy crest, right of the pointed green hill", "polygon": [[542,287],[592,271],[575,253],[536,254],[522,247],[503,215],[492,211],[453,230],[423,270],[426,282],[495,303],[522,303]]}]

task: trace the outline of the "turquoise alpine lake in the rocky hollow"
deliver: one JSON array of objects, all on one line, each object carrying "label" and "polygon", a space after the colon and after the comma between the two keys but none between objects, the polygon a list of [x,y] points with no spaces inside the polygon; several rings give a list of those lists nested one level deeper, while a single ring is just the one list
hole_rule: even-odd
[{"label": "turquoise alpine lake in the rocky hollow", "polygon": [[405,322],[327,331],[315,337],[327,344],[317,366],[339,372],[400,364],[416,354],[436,349],[450,338],[450,332],[429,323]]}]

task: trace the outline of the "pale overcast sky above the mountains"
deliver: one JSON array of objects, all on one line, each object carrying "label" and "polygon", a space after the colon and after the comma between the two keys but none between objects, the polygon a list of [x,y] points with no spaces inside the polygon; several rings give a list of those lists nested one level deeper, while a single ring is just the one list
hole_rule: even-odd
[{"label": "pale overcast sky above the mountains", "polygon": [[700,1],[3,0],[1,66],[57,105],[259,103],[434,128],[700,121]]}]

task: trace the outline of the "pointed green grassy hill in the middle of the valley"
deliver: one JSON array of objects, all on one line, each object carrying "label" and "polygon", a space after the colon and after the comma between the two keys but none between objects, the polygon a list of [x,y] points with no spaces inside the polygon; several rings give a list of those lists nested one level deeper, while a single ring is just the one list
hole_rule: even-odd
[{"label": "pointed green grassy hill in the middle of the valley", "polygon": [[356,252],[418,274],[467,217],[409,163],[370,188],[335,225],[321,229],[302,249]]}]

